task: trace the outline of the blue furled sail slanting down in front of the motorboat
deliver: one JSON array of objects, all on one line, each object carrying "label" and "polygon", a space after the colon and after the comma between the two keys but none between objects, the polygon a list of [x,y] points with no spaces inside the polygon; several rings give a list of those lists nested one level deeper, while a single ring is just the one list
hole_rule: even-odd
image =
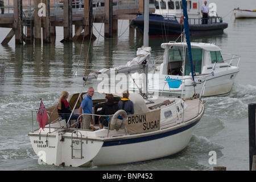
[{"label": "blue furled sail slanting down in front of the motorboat", "polygon": [[189,24],[188,24],[187,3],[185,0],[182,0],[182,7],[183,7],[184,29],[185,29],[185,36],[186,36],[187,45],[188,45],[188,55],[189,55],[189,61],[190,61],[191,75],[193,80],[195,80],[194,74],[193,74],[194,71],[193,71],[193,61],[192,61],[190,33],[189,33]]}]

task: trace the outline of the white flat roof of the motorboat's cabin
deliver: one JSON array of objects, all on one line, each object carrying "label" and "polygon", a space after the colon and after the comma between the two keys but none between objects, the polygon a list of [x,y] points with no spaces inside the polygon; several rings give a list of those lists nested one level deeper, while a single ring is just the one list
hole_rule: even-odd
[{"label": "white flat roof of the motorboat's cabin", "polygon": [[[162,48],[168,48],[170,46],[173,47],[187,47],[187,43],[184,42],[179,42],[179,43],[162,43],[161,47]],[[221,48],[214,45],[214,44],[209,44],[209,43],[197,43],[197,42],[192,42],[191,43],[191,48],[201,48],[201,49],[205,49],[206,51],[221,51]]]}]

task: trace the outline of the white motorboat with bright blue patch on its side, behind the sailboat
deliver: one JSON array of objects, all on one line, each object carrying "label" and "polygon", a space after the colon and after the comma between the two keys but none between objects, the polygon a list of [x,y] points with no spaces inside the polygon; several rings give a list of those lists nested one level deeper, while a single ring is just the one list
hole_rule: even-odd
[{"label": "white motorboat with bright blue patch on its side, behind the sailboat", "polygon": [[[226,96],[230,93],[239,72],[240,56],[222,54],[221,48],[214,44],[191,43],[194,82],[187,43],[162,43],[161,47],[164,48],[163,63],[148,71],[152,79],[148,82],[148,92],[190,98],[193,94],[200,94],[205,82],[204,97]],[[142,74],[134,73],[131,78],[130,89],[138,90]]]}]

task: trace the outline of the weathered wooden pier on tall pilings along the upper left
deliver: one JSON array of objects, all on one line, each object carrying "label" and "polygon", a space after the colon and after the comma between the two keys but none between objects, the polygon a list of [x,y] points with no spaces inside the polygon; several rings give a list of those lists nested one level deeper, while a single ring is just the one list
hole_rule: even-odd
[{"label": "weathered wooden pier on tall pilings along the upper left", "polygon": [[[41,44],[42,40],[51,43],[57,26],[63,27],[64,42],[81,37],[93,39],[93,23],[104,23],[104,36],[112,38],[117,32],[118,19],[134,19],[136,14],[143,13],[144,5],[144,0],[105,0],[104,6],[93,5],[92,0],[75,2],[79,3],[74,5],[72,0],[9,0],[5,4],[5,14],[0,14],[0,27],[11,28],[11,31],[1,44],[8,44],[13,36],[15,44]],[[154,13],[154,9],[150,9],[150,13]]]}]

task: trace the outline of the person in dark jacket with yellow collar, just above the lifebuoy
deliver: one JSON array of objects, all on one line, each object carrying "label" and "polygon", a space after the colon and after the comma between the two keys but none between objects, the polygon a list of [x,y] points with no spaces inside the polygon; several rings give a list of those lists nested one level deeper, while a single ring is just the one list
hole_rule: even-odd
[{"label": "person in dark jacket with yellow collar, just above the lifebuoy", "polygon": [[123,98],[118,102],[118,109],[125,110],[127,115],[134,114],[133,101],[129,100],[129,90],[123,91]]}]

